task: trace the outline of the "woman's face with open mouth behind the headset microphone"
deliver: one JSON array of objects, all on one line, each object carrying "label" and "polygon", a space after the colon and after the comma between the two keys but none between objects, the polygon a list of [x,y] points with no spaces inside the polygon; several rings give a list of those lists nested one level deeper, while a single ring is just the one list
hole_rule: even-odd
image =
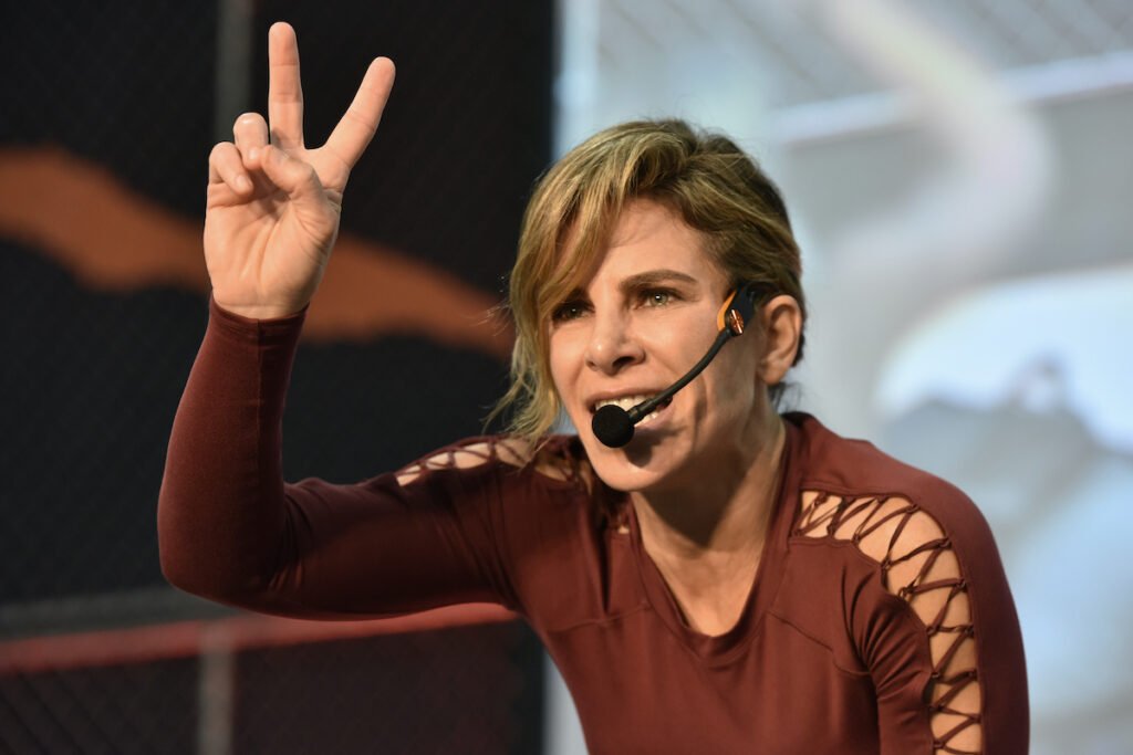
[{"label": "woman's face with open mouth behind the headset microphone", "polygon": [[716,337],[730,293],[704,239],[663,205],[628,205],[610,248],[551,323],[551,374],[590,462],[619,490],[679,490],[759,447],[766,391],[758,379],[758,328],[725,344],[667,406],[644,419],[629,445],[608,448],[590,429],[595,410],[623,409],[661,393]]}]

